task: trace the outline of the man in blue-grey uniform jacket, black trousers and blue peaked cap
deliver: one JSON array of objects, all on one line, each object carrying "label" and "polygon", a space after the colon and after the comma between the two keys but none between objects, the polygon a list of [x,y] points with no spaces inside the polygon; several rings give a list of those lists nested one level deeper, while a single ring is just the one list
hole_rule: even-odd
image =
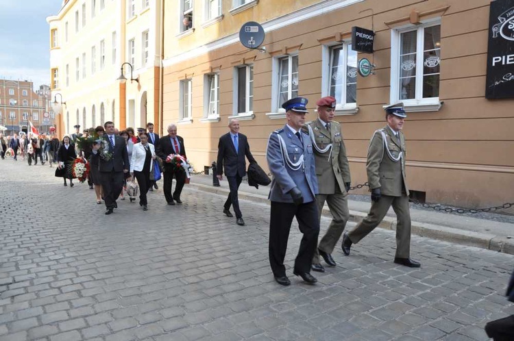
[{"label": "man in blue-grey uniform jacket, black trousers and blue peaked cap", "polygon": [[306,283],[317,279],[310,275],[310,264],[319,234],[316,194],[318,184],[313,156],[313,144],[308,134],[302,132],[305,123],[307,99],[296,97],[282,104],[287,123],[269,136],[266,158],[273,175],[269,199],[269,263],[277,283],[289,286],[284,257],[293,218],[303,233],[293,273]]}]

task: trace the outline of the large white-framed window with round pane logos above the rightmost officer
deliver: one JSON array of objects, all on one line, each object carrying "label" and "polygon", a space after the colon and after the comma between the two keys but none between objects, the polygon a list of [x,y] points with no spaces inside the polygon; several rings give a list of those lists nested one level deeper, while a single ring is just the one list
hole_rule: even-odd
[{"label": "large white-framed window with round pane logos above the rightmost officer", "polygon": [[439,102],[441,24],[393,31],[391,101],[404,105]]}]

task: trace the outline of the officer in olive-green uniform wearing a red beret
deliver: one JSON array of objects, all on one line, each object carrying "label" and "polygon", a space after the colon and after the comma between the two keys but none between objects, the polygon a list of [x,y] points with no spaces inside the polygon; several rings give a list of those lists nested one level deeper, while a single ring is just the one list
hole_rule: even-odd
[{"label": "officer in olive-green uniform wearing a red beret", "polygon": [[331,96],[323,97],[316,105],[318,118],[307,123],[304,130],[310,135],[314,147],[319,188],[319,194],[316,194],[318,216],[321,219],[321,211],[326,201],[333,217],[325,236],[319,242],[311,266],[314,271],[322,273],[325,268],[319,262],[319,255],[329,266],[336,266],[331,254],[350,217],[347,191],[350,190],[351,179],[341,125],[332,121],[336,99]]}]

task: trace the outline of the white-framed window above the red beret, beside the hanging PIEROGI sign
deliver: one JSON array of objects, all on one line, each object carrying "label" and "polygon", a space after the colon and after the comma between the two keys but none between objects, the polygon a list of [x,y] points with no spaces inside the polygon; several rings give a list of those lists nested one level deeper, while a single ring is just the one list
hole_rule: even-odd
[{"label": "white-framed window above the red beret, beside the hanging PIEROGI sign", "polygon": [[357,102],[357,51],[351,44],[330,47],[327,91],[336,99],[336,108],[356,105]]}]

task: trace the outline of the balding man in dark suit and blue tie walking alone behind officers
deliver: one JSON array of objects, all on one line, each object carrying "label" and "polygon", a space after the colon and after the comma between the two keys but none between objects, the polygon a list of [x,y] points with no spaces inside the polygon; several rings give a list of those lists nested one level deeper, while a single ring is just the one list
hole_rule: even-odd
[{"label": "balding man in dark suit and blue tie walking alone behind officers", "polygon": [[246,160],[253,164],[256,162],[252,153],[250,153],[250,146],[245,135],[239,134],[239,121],[232,118],[228,127],[230,131],[221,136],[218,142],[218,168],[217,177],[223,179],[223,165],[225,166],[225,175],[228,181],[230,193],[228,194],[227,201],[223,205],[223,213],[226,216],[232,216],[230,213],[230,205],[234,207],[236,214],[237,225],[245,225],[241,210],[239,210],[239,201],[237,198],[237,190],[241,185],[241,180],[246,175]]}]

